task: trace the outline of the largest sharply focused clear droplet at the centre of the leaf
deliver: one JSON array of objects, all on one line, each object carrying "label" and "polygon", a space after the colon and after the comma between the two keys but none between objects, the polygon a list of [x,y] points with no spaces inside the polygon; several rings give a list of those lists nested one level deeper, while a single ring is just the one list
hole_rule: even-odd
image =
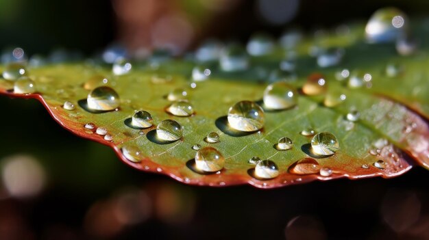
[{"label": "largest sharply focused clear droplet at the centre of the leaf", "polygon": [[252,101],[241,101],[230,107],[228,122],[233,129],[239,131],[257,131],[264,126],[264,110]]}]

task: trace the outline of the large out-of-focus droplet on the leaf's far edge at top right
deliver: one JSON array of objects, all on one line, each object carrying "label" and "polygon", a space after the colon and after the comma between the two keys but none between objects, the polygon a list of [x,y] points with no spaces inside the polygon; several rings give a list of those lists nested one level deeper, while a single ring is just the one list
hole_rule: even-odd
[{"label": "large out-of-focus droplet on the leaf's far edge at top right", "polygon": [[393,42],[406,32],[406,15],[397,8],[381,8],[373,13],[365,27],[368,42]]}]

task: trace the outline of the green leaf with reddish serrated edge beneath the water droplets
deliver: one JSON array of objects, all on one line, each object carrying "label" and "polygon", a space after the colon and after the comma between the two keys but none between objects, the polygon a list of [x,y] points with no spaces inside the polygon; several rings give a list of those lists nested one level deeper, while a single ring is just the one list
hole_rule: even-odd
[{"label": "green leaf with reddish serrated edge beneath the water droplets", "polygon": [[[0,81],[0,92],[6,96],[38,99],[64,128],[112,147],[119,158],[133,168],[167,174],[193,185],[248,183],[271,188],[316,179],[389,178],[410,170],[413,166],[411,159],[429,168],[429,90],[425,78],[429,59],[426,46],[421,46],[415,55],[399,57],[391,44],[365,43],[362,32],[362,27],[357,26],[350,35],[330,34],[318,40],[323,47],[341,45],[345,48],[343,62],[334,68],[318,67],[315,59],[307,54],[312,40],[301,42],[297,46],[297,80],[289,83],[301,89],[307,77],[317,72],[326,79],[328,92],[307,96],[301,91],[296,107],[265,111],[264,128],[249,134],[233,131],[225,116],[238,101],[250,100],[262,105],[269,76],[260,72],[278,72],[283,51],[280,46],[276,46],[276,51],[269,56],[252,57],[252,68],[246,71],[224,72],[217,64],[212,64],[209,66],[212,70],[210,79],[197,82],[196,87],[193,85],[195,88],[191,87],[190,77],[195,62],[169,58],[156,62],[158,68],[153,68],[151,59],[135,62],[132,71],[121,76],[113,75],[110,68],[99,64],[56,63],[29,68],[29,77],[36,85],[35,94],[16,94],[12,90],[14,82],[6,80]],[[427,32],[421,34],[423,38]],[[391,63],[400,64],[404,70],[394,77],[387,76],[386,68]],[[370,73],[371,85],[347,88],[347,81],[337,81],[335,77],[342,68],[360,71],[362,75]],[[119,111],[94,113],[84,109],[89,92],[84,85],[97,76],[99,79],[106,77],[108,85],[118,92],[121,99]],[[177,89],[188,93],[186,98],[195,109],[193,116],[172,116],[165,111],[171,104],[167,94]],[[345,101],[330,107],[323,105],[328,96],[339,94],[346,96]],[[64,109],[66,101],[76,108]],[[360,113],[356,122],[345,117],[353,109]],[[127,121],[135,110],[148,111],[154,118],[154,126],[142,130],[128,126]],[[180,140],[167,144],[158,142],[156,125],[165,119],[176,120],[184,127]],[[94,129],[86,129],[84,126],[88,123],[94,124]],[[98,127],[105,128],[112,135],[112,141],[97,134]],[[315,155],[311,150],[311,137],[300,134],[308,128],[317,133],[334,134],[340,149],[329,157]],[[218,143],[204,142],[210,132],[219,133]],[[275,144],[280,137],[291,138],[293,148],[277,150]],[[214,174],[201,174],[195,170],[195,144],[219,150],[225,157],[223,170]],[[121,151],[124,146],[138,148],[143,154],[138,159],[140,161],[129,161]],[[254,156],[274,161],[280,175],[270,180],[255,178],[254,165],[249,163]],[[294,167],[295,171],[291,170]]]}]

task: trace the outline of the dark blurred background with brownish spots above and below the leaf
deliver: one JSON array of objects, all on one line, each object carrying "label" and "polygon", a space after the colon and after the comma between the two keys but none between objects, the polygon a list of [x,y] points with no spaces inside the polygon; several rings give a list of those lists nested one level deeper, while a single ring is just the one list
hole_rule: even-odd
[{"label": "dark blurred background with brownish spots above and below the leaf", "polygon": [[[134,57],[181,55],[208,38],[310,32],[391,5],[429,14],[426,0],[0,0],[0,49],[88,56],[119,44]],[[0,239],[429,239],[421,168],[271,190],[190,187],[127,167],[35,100],[0,105]]]}]

